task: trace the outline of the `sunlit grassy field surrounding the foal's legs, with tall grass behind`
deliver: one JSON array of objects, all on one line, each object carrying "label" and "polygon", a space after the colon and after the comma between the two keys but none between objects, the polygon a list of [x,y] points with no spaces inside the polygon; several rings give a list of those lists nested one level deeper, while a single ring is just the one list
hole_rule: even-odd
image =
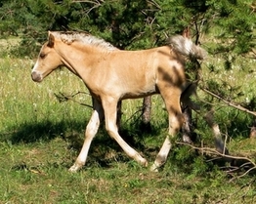
[{"label": "sunlit grassy field surrounding the foal's legs, with tall grass behind", "polygon": [[[109,139],[104,125],[85,167],[77,174],[68,173],[83,143],[91,109],[76,102],[59,102],[55,94],[86,89],[65,69],[36,84],[30,79],[32,64],[27,59],[0,59],[0,203],[256,203],[254,174],[238,177],[246,170],[231,174],[226,164],[214,163],[179,144],[164,168],[151,173]],[[239,100],[250,100],[255,95],[256,72],[246,75],[242,67],[252,69],[253,64],[255,61],[240,61],[214,78],[241,85],[244,94]],[[213,73],[204,76],[207,80]],[[91,103],[86,94],[74,99]],[[123,136],[151,163],[165,138],[167,117],[160,98],[153,97],[152,130],[142,132],[136,123],[139,113],[134,115],[140,106],[141,101],[124,102]],[[232,154],[254,161],[256,142],[248,139],[251,117],[219,102],[216,119],[229,136]],[[198,143],[213,147],[203,119],[197,118],[195,131]]]}]

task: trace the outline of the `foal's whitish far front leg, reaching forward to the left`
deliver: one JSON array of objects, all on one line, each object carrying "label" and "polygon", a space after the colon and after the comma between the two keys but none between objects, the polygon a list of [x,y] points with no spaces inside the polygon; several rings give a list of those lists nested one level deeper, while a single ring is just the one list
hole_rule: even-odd
[{"label": "foal's whitish far front leg, reaching forward to the left", "polygon": [[69,168],[70,172],[77,172],[85,165],[90,145],[98,132],[100,122],[104,118],[102,104],[94,101],[94,111],[85,130],[85,140],[75,163]]}]

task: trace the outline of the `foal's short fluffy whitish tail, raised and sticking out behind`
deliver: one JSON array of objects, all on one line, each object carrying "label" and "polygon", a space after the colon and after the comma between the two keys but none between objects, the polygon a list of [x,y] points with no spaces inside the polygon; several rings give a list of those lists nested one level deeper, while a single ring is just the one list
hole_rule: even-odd
[{"label": "foal's short fluffy whitish tail, raised and sticking out behind", "polygon": [[207,56],[207,52],[204,49],[196,46],[191,39],[182,35],[171,37],[169,39],[169,44],[175,51],[193,59],[203,60]]}]

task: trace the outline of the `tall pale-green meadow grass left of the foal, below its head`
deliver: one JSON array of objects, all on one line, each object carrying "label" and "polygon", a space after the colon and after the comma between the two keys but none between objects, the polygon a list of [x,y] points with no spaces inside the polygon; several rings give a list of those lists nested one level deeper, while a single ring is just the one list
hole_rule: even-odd
[{"label": "tall pale-green meadow grass left of the foal, below its head", "polygon": [[[69,94],[85,89],[82,82],[74,79],[69,72],[56,71],[49,76],[49,80],[36,84],[30,79],[32,61],[5,59],[0,65],[2,134],[12,134],[17,140],[36,140],[30,137],[34,137],[33,131],[37,129],[46,135],[51,134],[56,125],[64,126],[68,122],[72,126],[81,117],[85,119],[88,116],[90,109],[60,103],[55,97],[55,93]],[[91,102],[86,95],[80,98]]]}]

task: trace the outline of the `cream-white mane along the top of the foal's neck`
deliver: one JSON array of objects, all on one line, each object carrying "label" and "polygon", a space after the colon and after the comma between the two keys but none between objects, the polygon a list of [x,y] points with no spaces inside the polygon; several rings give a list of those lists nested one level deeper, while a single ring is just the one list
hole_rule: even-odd
[{"label": "cream-white mane along the top of the foal's neck", "polygon": [[104,39],[97,38],[86,32],[62,32],[54,31],[51,32],[55,37],[60,38],[64,43],[71,44],[74,41],[79,41],[84,44],[98,46],[108,51],[118,50],[116,47],[106,42]]}]

